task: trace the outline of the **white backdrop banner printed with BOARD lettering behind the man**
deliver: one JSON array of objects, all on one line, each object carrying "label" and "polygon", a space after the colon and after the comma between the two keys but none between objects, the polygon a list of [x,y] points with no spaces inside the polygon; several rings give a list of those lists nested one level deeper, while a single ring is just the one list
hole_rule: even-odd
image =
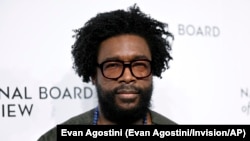
[{"label": "white backdrop banner printed with BOARD lettering behind the man", "polygon": [[97,105],[72,69],[73,30],[137,3],[175,36],[152,109],[179,124],[250,124],[250,1],[0,1],[0,140],[34,141]]}]

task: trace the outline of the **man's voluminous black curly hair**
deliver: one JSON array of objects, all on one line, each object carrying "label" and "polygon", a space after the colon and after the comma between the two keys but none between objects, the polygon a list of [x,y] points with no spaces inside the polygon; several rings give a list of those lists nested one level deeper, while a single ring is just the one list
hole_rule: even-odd
[{"label": "man's voluminous black curly hair", "polygon": [[102,41],[107,38],[133,34],[143,37],[152,55],[152,74],[161,78],[161,73],[169,68],[172,50],[168,37],[174,39],[168,25],[144,14],[134,4],[127,11],[115,10],[99,13],[82,28],[74,30],[76,40],[72,45],[73,69],[89,82],[96,74],[97,52]]}]

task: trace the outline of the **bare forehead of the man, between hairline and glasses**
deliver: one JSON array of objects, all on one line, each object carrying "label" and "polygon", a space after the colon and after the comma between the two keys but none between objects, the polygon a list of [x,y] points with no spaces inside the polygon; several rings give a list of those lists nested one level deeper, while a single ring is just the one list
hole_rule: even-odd
[{"label": "bare forehead of the man, between hairline and glasses", "polygon": [[147,42],[140,36],[123,35],[112,37],[102,42],[98,52],[98,60],[132,60],[151,59]]}]

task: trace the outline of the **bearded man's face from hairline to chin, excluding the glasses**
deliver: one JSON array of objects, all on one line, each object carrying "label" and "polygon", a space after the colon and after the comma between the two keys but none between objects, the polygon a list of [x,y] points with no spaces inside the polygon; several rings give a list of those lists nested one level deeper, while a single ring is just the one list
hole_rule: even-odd
[{"label": "bearded man's face from hairline to chin, excluding the glasses", "polygon": [[[134,60],[151,60],[148,44],[140,36],[119,35],[100,44],[98,64]],[[132,123],[147,112],[153,89],[151,74],[145,78],[136,78],[130,68],[125,67],[119,78],[108,79],[98,68],[94,81],[102,113],[107,119],[117,123]]]}]

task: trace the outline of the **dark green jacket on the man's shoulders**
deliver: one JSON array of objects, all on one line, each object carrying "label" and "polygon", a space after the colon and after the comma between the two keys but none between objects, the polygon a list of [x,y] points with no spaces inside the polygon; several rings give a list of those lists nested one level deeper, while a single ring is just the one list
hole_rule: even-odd
[{"label": "dark green jacket on the man's shoulders", "polygon": [[[164,117],[163,115],[150,110],[152,123],[154,125],[176,125],[174,121]],[[82,113],[80,115],[77,115],[75,117],[70,118],[69,120],[62,123],[62,125],[92,125],[93,124],[93,118],[94,118],[94,109],[91,109],[87,111],[86,113]],[[56,126],[49,131],[47,131],[45,134],[43,134],[38,141],[56,141],[57,134],[56,134]]]}]

